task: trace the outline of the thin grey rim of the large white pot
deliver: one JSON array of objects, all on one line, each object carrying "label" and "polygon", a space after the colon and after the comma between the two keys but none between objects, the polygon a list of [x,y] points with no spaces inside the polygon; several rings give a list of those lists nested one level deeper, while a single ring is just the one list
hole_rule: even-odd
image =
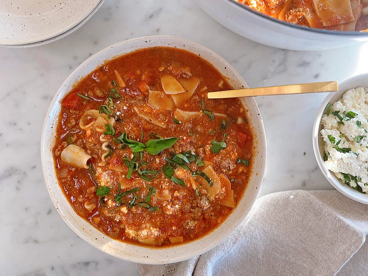
[{"label": "thin grey rim of the large white pot", "polygon": [[306,32],[312,32],[312,33],[320,33],[320,34],[326,34],[326,35],[337,35],[337,36],[348,36],[348,37],[368,37],[368,32],[359,32],[359,31],[331,31],[331,30],[325,30],[325,29],[317,29],[317,28],[311,28],[311,27],[304,27],[301,25],[297,25],[297,24],[291,24],[289,22],[268,16],[266,14],[263,14],[259,11],[256,11],[252,8],[249,8],[248,6],[246,6],[245,4],[239,3],[237,0],[226,0],[228,2],[233,3],[233,5],[237,5],[238,7],[240,7],[241,9],[246,10],[247,12],[250,13],[254,13],[257,16],[266,18],[266,20],[271,20],[273,22],[277,22],[281,25],[284,25],[286,27],[290,27],[293,29],[297,29],[297,30],[301,30],[301,31],[306,31]]}]

